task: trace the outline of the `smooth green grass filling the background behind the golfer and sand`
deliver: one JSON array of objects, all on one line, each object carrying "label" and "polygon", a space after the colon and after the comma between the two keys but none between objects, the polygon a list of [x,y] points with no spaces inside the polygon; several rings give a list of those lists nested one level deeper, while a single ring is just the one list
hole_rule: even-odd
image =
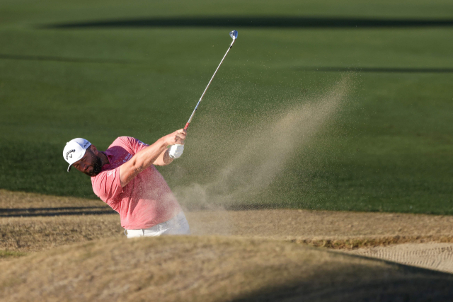
[{"label": "smooth green grass filling the background behind the golfer and sand", "polygon": [[[453,214],[452,25],[43,28],[181,16],[451,21],[453,2],[3,0],[0,187],[96,198],[88,177],[66,173],[66,141],[84,137],[105,149],[120,135],[152,142],[183,127],[226,51],[229,30],[236,29],[239,40],[207,92],[200,119],[216,112],[210,98],[234,99],[236,109],[252,116],[269,103],[288,105],[296,96],[322,93],[342,76],[316,68],[407,69],[357,74],[331,126],[336,131],[311,146],[319,168],[307,175],[303,159],[294,158],[249,203]],[[201,129],[196,120],[193,132]],[[170,167],[161,170],[172,187],[206,180],[203,167],[189,162],[194,148],[176,165],[188,178],[172,178]]]}]

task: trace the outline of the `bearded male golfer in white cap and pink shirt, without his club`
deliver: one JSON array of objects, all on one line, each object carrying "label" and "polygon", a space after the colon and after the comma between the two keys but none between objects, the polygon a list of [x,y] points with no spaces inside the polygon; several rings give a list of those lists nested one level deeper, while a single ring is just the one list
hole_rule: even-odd
[{"label": "bearded male golfer in white cap and pink shirt, without his club", "polygon": [[64,147],[63,157],[68,172],[74,166],[91,176],[93,192],[120,214],[127,238],[189,234],[178,201],[154,167],[181,156],[186,134],[180,129],[151,145],[118,137],[105,151],[86,139],[73,139]]}]

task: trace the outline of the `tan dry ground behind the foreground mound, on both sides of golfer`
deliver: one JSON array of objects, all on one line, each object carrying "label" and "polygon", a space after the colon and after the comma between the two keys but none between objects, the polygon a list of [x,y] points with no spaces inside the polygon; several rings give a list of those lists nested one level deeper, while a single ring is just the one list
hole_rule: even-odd
[{"label": "tan dry ground behind the foreground mound, on both sides of golfer", "polygon": [[[453,216],[292,209],[186,216],[194,235],[290,240],[452,272]],[[122,236],[119,216],[101,201],[0,190],[0,250],[37,252],[115,236]]]}]

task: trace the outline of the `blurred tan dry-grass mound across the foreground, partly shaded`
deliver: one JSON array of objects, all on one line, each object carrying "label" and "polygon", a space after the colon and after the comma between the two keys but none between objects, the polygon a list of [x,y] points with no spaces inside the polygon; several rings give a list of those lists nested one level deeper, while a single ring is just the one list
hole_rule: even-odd
[{"label": "blurred tan dry-grass mound across the foreground, partly shaded", "polygon": [[453,297],[453,277],[293,243],[110,238],[0,263],[1,301],[410,301]]}]

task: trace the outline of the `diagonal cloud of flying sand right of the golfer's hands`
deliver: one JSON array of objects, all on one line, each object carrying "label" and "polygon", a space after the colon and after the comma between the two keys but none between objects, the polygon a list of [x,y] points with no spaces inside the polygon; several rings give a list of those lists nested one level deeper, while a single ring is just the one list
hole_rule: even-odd
[{"label": "diagonal cloud of flying sand right of the golfer's hands", "polygon": [[[224,108],[219,106],[227,100],[219,102],[214,112],[200,115],[197,128],[190,129],[196,134],[189,132],[186,141],[186,149],[196,151],[187,152],[184,165],[174,165],[168,176],[178,174],[193,180],[188,185],[172,186],[180,204],[189,211],[246,204],[278,181],[297,159],[294,157],[303,154],[339,112],[351,86],[350,76],[343,76],[322,95],[297,98],[292,105],[277,106],[252,117],[222,117]],[[242,118],[248,122],[240,122]]]}]

